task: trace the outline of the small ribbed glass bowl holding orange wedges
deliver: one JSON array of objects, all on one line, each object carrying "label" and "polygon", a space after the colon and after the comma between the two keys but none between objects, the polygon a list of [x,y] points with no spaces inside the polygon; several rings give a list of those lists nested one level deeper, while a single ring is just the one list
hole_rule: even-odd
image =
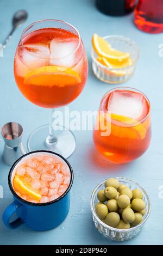
[{"label": "small ribbed glass bowl holding orange wedges", "polygon": [[99,80],[124,83],[134,74],[139,47],[122,35],[92,36],[92,69]]}]

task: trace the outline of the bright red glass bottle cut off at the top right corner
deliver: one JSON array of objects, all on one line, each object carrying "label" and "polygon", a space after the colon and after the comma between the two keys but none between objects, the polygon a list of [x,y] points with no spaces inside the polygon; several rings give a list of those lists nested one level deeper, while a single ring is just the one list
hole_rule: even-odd
[{"label": "bright red glass bottle cut off at the top right corner", "polygon": [[144,32],[163,32],[163,0],[139,0],[135,8],[134,22]]}]

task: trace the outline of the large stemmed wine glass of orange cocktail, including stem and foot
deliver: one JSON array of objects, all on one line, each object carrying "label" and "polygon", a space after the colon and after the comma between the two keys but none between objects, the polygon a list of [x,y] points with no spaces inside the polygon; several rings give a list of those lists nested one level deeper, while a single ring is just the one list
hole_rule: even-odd
[{"label": "large stemmed wine glass of orange cocktail, including stem and foot", "polygon": [[[15,81],[35,105],[49,109],[49,125],[37,128],[28,150],[52,150],[65,158],[76,139],[68,127],[55,124],[54,108],[68,105],[82,92],[87,79],[87,57],[75,27],[59,20],[42,20],[22,33],[14,61]],[[60,120],[64,124],[64,120]]]}]

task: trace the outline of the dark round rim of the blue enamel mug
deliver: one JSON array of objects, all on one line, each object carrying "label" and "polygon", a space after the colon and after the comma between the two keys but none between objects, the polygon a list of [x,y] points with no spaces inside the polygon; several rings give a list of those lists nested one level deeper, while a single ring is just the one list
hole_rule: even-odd
[{"label": "dark round rim of the blue enamel mug", "polygon": [[[15,168],[15,166],[17,165],[18,162],[20,162],[23,157],[26,157],[30,154],[35,154],[35,153],[51,153],[53,155],[57,155],[59,157],[61,157],[62,160],[64,160],[67,165],[68,165],[68,168],[70,169],[70,174],[71,174],[71,179],[70,179],[70,184],[68,185],[67,187],[67,190],[60,196],[58,197],[57,199],[53,200],[53,201],[50,201],[50,202],[47,202],[47,203],[32,203],[32,202],[29,202],[29,201],[26,201],[24,200],[23,198],[21,198],[20,196],[18,196],[18,194],[15,192],[14,188],[12,187],[12,172]],[[31,151],[23,156],[21,156],[19,159],[17,159],[14,164],[12,164],[11,168],[10,168],[10,171],[9,171],[9,175],[8,175],[8,185],[9,185],[9,188],[10,188],[10,191],[12,192],[12,194],[14,195],[14,197],[16,197],[18,200],[20,200],[22,203],[24,204],[28,204],[28,205],[33,205],[33,206],[46,206],[46,205],[51,205],[51,204],[54,204],[54,203],[57,203],[58,201],[60,201],[62,198],[64,198],[66,196],[66,194],[70,191],[71,187],[72,187],[72,184],[73,184],[73,178],[74,178],[74,175],[73,175],[73,169],[70,165],[70,163],[67,161],[67,159],[65,159],[65,157],[59,155],[58,153],[55,153],[53,151],[50,151],[50,150],[35,150],[35,151]]]}]

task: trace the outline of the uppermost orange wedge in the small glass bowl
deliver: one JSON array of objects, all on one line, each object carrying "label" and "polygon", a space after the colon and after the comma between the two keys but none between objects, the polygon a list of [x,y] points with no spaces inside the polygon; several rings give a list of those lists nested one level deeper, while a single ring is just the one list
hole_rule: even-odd
[{"label": "uppermost orange wedge in the small glass bowl", "polygon": [[105,57],[115,65],[126,62],[129,58],[129,53],[115,50],[105,39],[97,34],[92,36],[92,46],[97,55]]}]

